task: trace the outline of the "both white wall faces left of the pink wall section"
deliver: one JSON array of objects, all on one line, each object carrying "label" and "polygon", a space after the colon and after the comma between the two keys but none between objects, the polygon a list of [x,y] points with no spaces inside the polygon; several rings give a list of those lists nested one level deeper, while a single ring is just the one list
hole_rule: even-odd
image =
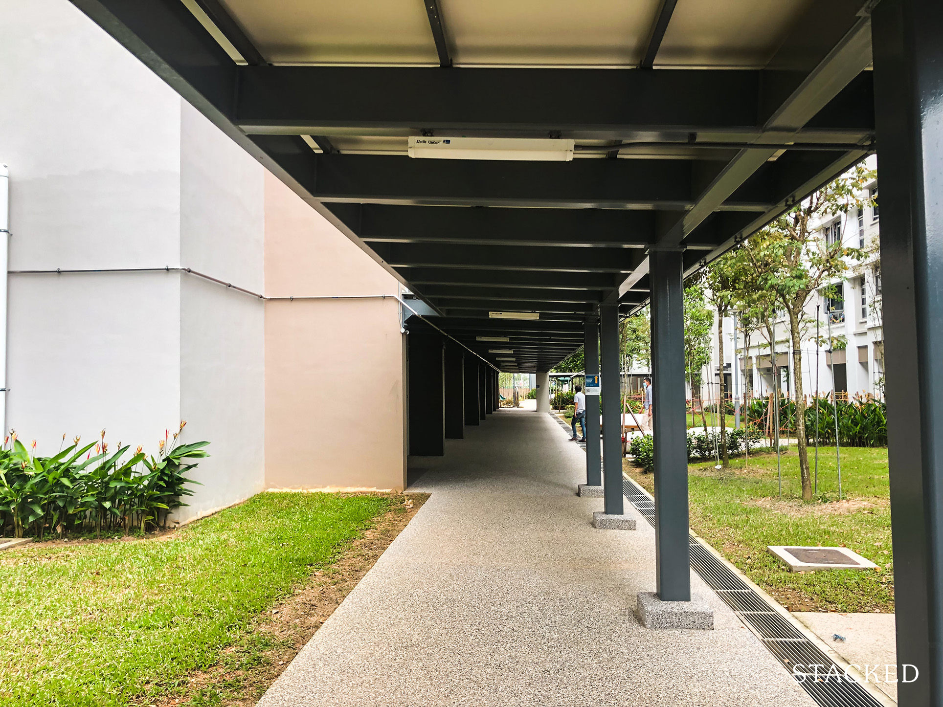
[{"label": "both white wall faces left of the pink wall section", "polygon": [[[183,266],[262,291],[263,169],[67,0],[0,0],[11,270]],[[208,439],[180,518],[264,479],[264,306],[179,272],[11,275],[8,424]]]}]

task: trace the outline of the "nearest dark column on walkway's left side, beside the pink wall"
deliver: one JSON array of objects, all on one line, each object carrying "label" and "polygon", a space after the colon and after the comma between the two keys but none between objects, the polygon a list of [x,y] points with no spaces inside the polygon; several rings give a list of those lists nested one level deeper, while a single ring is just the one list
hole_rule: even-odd
[{"label": "nearest dark column on walkway's left side, beside the pink wall", "polygon": [[409,453],[445,453],[445,343],[438,334],[409,334]]}]

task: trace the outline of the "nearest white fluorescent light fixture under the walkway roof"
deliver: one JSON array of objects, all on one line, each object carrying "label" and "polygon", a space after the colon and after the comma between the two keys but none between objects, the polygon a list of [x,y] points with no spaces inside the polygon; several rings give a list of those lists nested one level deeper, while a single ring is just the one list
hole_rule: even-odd
[{"label": "nearest white fluorescent light fixture under the walkway roof", "polygon": [[569,162],[572,140],[549,138],[409,138],[409,156]]}]

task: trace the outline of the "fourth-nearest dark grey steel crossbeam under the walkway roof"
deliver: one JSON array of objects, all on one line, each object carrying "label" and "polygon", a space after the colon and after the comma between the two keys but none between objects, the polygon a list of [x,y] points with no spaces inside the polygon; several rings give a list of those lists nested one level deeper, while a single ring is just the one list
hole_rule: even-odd
[{"label": "fourth-nearest dark grey steel crossbeam under the walkway roof", "polygon": [[631,272],[641,251],[623,248],[538,248],[521,246],[373,243],[393,268],[458,268],[488,271]]}]

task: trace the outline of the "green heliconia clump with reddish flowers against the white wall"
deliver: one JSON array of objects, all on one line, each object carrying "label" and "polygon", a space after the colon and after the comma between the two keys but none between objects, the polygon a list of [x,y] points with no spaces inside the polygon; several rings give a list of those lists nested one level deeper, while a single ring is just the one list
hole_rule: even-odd
[{"label": "green heliconia clump with reddish flowers against the white wall", "polygon": [[[109,454],[105,430],[84,447],[76,436],[56,455],[39,457],[35,440],[27,448],[11,431],[0,448],[4,528],[11,524],[16,537],[32,531],[42,539],[47,532],[65,537],[70,531],[94,531],[100,536],[118,528],[124,534],[132,529],[143,533],[148,523],[166,527],[168,515],[192,495],[188,485],[199,484],[186,477],[197,466],[191,460],[208,456],[203,448],[209,442],[177,445],[186,424],[180,423],[173,440],[165,433],[157,457],[149,458],[140,446],[125,458],[130,446],[121,442]],[[65,435],[62,440],[64,444]]]}]

